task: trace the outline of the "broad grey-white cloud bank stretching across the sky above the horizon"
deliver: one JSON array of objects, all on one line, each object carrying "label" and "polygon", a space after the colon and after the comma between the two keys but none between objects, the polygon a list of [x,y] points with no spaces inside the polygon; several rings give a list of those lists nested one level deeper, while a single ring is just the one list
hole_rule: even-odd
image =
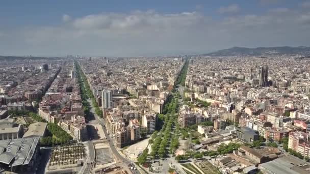
[{"label": "broad grey-white cloud bank stretching across the sky above the horizon", "polygon": [[0,52],[15,55],[137,56],[204,53],[232,46],[308,45],[310,14],[274,9],[213,20],[198,12],[102,13],[51,26],[1,31]]}]

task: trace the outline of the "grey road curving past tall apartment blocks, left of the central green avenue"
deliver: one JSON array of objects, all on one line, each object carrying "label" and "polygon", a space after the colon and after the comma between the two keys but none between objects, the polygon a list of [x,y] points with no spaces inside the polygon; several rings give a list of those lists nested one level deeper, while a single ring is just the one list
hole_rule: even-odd
[{"label": "grey road curving past tall apartment blocks, left of the central green avenue", "polygon": [[[105,129],[104,125],[105,125],[105,121],[103,119],[100,119],[98,117],[98,115],[95,113],[95,109],[94,106],[92,104],[91,99],[88,99],[88,102],[90,103],[90,112],[91,114],[94,116],[94,120],[89,121],[88,125],[91,124],[100,124],[102,126],[102,129],[104,130],[105,136],[108,140],[109,146],[113,152],[113,154],[116,156],[116,158],[118,158],[123,164],[125,164],[126,166],[128,166],[128,164],[133,164],[133,162],[131,162],[130,160],[124,158],[116,149],[116,147],[114,146],[113,143],[113,139],[110,137],[110,135],[108,135],[107,129]],[[137,167],[136,167],[137,168]],[[133,171],[134,173],[140,174],[140,172],[138,170]]]}]

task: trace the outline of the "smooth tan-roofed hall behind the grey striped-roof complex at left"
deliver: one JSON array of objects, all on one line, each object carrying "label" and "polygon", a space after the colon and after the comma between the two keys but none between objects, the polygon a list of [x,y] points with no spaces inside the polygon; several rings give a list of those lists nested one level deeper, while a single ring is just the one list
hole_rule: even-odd
[{"label": "smooth tan-roofed hall behind the grey striped-roof complex at left", "polygon": [[25,132],[23,135],[23,138],[25,137],[34,137],[34,136],[39,136],[44,137],[46,134],[46,128],[47,128],[47,123],[43,122],[37,122],[29,125],[28,131]]}]

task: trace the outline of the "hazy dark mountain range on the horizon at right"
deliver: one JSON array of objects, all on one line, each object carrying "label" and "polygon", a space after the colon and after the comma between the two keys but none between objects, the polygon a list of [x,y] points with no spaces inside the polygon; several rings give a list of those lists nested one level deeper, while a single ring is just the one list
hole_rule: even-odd
[{"label": "hazy dark mountain range on the horizon at right", "polygon": [[299,46],[299,47],[258,47],[258,48],[244,48],[244,47],[233,47],[228,49],[222,49],[219,51],[211,52],[208,54],[202,54],[205,56],[268,56],[268,55],[310,55],[310,47]]}]

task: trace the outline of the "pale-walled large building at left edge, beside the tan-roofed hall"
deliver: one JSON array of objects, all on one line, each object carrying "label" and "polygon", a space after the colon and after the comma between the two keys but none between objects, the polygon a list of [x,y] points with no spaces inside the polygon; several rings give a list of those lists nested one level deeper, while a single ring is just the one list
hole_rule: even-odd
[{"label": "pale-walled large building at left edge, beside the tan-roofed hall", "polygon": [[14,119],[7,118],[0,120],[0,140],[21,138],[23,128],[16,124]]}]

